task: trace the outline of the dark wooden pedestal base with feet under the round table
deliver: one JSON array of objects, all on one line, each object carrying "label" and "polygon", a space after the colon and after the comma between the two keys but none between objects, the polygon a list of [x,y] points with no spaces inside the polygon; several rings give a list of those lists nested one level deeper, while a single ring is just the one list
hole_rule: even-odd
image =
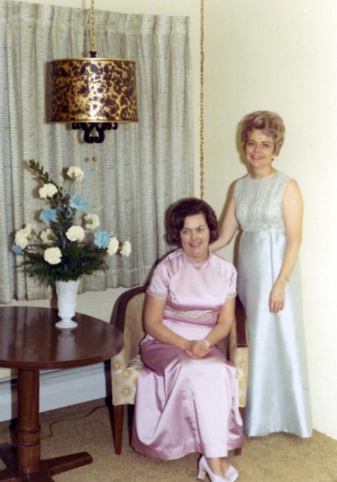
[{"label": "dark wooden pedestal base with feet under the round table", "polygon": [[7,467],[0,471],[2,482],[52,482],[52,475],[92,462],[87,452],[40,460],[38,370],[18,370],[16,463],[9,444],[0,445],[0,457]]}]

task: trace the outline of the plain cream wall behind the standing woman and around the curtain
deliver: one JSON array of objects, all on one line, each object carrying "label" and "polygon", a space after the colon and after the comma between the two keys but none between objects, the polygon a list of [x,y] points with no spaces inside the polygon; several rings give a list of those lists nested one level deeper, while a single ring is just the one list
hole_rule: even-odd
[{"label": "plain cream wall behind the standing woman and around the curtain", "polygon": [[[89,0],[72,1],[83,5]],[[191,17],[198,195],[198,0],[96,0],[96,8]],[[298,179],[305,199],[301,265],[314,428],[337,439],[335,18],[334,0],[205,0],[205,199],[220,215],[231,182],[246,173],[236,147],[243,115],[260,108],[281,114],[286,143],[275,167]],[[233,243],[222,254],[230,260]],[[98,316],[101,300],[113,296],[85,293],[81,303]]]}]

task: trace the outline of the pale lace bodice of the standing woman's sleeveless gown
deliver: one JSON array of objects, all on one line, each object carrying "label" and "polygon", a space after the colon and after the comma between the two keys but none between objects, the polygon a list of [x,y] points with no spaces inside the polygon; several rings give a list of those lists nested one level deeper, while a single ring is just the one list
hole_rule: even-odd
[{"label": "pale lace bodice of the standing woman's sleeveless gown", "polygon": [[282,196],[289,179],[282,172],[275,172],[262,179],[253,179],[247,175],[236,182],[236,219],[243,231],[285,231]]}]

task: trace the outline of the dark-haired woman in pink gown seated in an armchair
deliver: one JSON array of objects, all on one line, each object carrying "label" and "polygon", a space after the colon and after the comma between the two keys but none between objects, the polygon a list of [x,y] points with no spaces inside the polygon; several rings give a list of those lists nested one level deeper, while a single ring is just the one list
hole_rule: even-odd
[{"label": "dark-haired woman in pink gown seated in an armchair", "polygon": [[198,478],[234,482],[227,451],[243,444],[236,369],[217,343],[234,320],[236,270],[209,252],[218,237],[210,205],[176,203],[167,238],[179,246],[156,267],[144,311],[132,446],[148,457],[202,454]]}]

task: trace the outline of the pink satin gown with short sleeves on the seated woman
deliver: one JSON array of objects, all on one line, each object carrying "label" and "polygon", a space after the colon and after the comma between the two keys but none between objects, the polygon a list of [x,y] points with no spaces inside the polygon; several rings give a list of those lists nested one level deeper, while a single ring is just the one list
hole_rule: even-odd
[{"label": "pink satin gown with short sleeves on the seated woman", "polygon": [[[163,323],[172,331],[203,339],[226,298],[236,296],[236,270],[217,255],[195,263],[178,249],[156,267],[148,294],[166,299]],[[219,348],[196,360],[147,335],[141,360],[132,429],[137,452],[170,460],[191,452],[224,457],[241,447],[236,369]]]}]

